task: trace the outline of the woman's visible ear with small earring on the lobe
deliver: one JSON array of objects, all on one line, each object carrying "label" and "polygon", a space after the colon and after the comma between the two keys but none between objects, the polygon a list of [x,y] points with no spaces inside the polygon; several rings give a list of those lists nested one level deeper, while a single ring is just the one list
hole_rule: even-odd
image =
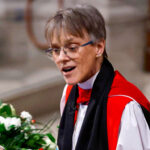
[{"label": "woman's visible ear with small earring on the lobe", "polygon": [[105,40],[96,43],[96,57],[101,57],[105,49]]}]

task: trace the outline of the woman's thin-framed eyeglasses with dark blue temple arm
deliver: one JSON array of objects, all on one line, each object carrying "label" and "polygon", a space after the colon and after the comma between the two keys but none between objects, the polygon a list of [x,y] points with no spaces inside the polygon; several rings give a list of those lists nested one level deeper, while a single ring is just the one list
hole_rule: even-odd
[{"label": "woman's thin-framed eyeglasses with dark blue temple arm", "polygon": [[60,51],[62,49],[64,54],[66,54],[70,58],[73,58],[80,47],[84,47],[84,46],[87,46],[87,45],[93,44],[93,43],[94,43],[93,41],[89,41],[82,45],[70,44],[68,46],[64,46],[61,48],[49,48],[45,52],[50,58],[52,58],[52,57],[57,58],[60,55]]}]

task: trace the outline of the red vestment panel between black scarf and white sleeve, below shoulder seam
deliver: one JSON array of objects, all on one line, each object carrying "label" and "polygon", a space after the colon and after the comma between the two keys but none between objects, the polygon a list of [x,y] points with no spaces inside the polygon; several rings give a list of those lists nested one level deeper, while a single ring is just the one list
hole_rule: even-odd
[{"label": "red vestment panel between black scarf and white sleeve, below shoulder seam", "polygon": [[[122,102],[120,102],[122,101]],[[121,96],[110,97],[107,101],[107,135],[109,150],[116,150],[119,126],[123,110],[131,99]]]}]

